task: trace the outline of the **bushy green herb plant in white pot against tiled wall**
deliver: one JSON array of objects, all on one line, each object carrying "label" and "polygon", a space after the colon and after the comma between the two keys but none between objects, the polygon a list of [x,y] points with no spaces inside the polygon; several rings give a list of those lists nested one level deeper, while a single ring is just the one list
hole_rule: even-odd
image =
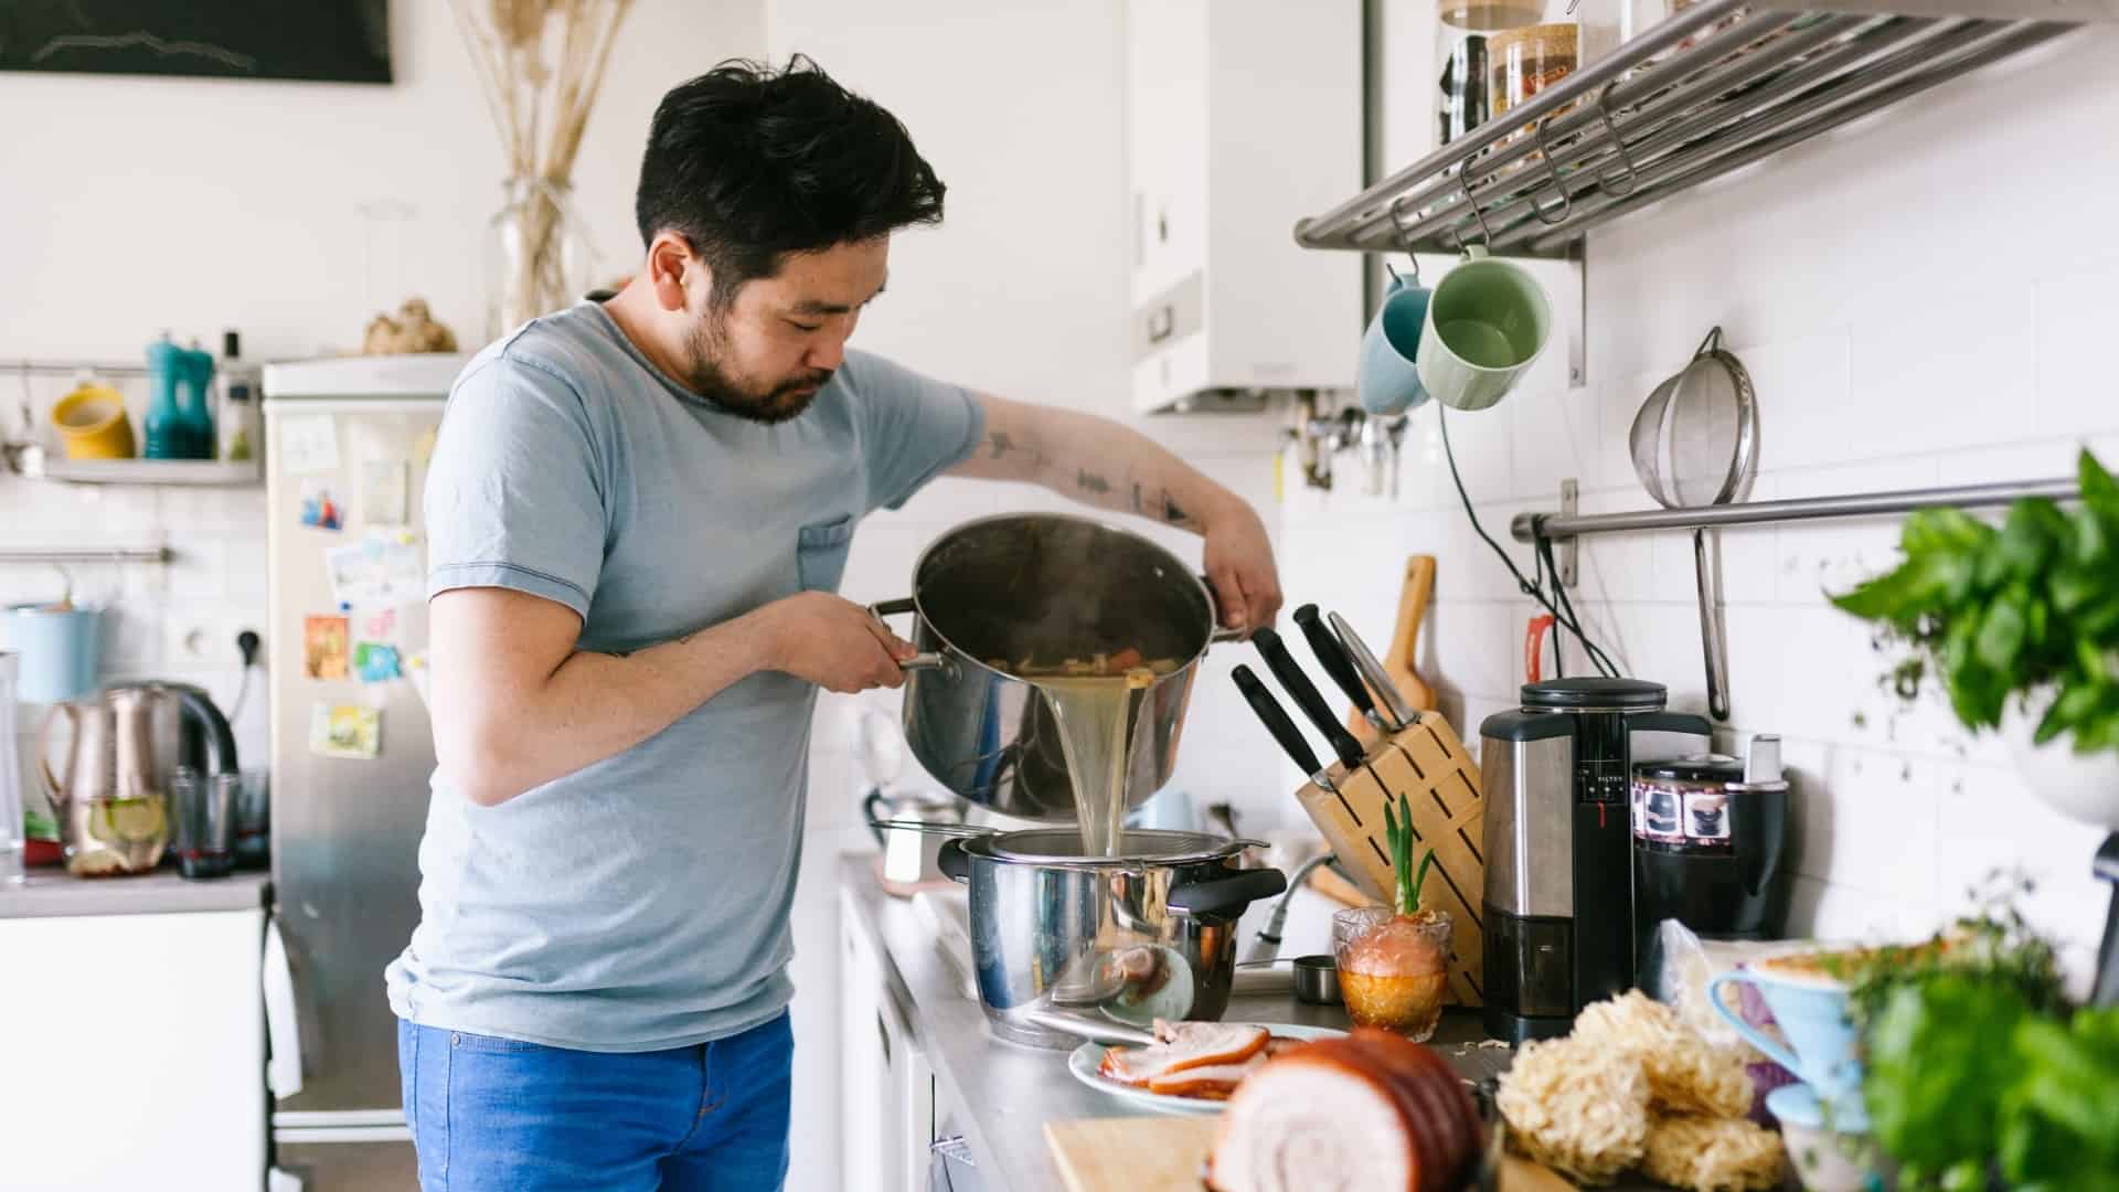
[{"label": "bushy green herb plant in white pot against tiled wall", "polygon": [[2032,791],[2119,829],[2119,484],[2087,450],[2081,507],[2009,507],[1996,528],[1958,509],[1905,518],[1905,560],[1833,596],[1909,651],[1894,685],[1939,683],[1958,721],[1996,730]]}]

